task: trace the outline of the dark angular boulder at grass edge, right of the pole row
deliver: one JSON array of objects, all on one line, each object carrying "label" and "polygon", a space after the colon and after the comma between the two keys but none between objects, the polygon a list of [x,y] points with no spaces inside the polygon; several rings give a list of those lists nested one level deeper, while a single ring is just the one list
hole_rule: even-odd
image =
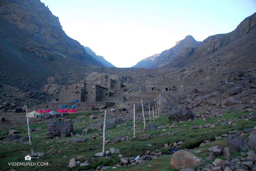
[{"label": "dark angular boulder at grass edge, right of the pole row", "polygon": [[185,105],[176,106],[175,108],[173,108],[173,110],[169,110],[167,114],[169,114],[169,121],[172,122],[187,121],[189,119],[194,119],[194,114],[192,113],[190,108]]}]

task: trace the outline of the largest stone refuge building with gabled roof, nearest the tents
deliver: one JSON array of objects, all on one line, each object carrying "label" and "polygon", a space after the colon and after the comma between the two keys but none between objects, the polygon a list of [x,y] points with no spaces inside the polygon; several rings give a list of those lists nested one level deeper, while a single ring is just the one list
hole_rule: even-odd
[{"label": "largest stone refuge building with gabled roof, nearest the tents", "polygon": [[108,88],[86,83],[84,79],[64,86],[59,93],[59,100],[60,102],[75,100],[79,102],[124,102],[125,97],[115,96],[115,93],[109,92]]}]

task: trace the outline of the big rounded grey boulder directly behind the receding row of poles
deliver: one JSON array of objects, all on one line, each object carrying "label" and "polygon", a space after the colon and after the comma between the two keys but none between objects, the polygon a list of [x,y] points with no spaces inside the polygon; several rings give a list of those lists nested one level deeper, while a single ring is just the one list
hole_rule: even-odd
[{"label": "big rounded grey boulder directly behind the receding row of poles", "polygon": [[172,110],[175,106],[180,104],[180,101],[176,97],[167,93],[159,94],[154,101],[159,103],[159,100],[162,100],[162,112]]}]

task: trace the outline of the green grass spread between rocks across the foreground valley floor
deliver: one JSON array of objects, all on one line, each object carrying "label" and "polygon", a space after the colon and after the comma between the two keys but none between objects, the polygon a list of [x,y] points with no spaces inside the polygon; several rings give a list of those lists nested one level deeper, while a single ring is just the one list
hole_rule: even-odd
[{"label": "green grass spread between rocks across the foreground valley floor", "polygon": [[[200,111],[199,111],[200,112]],[[74,133],[82,133],[81,130],[75,129],[78,126],[82,126],[82,130],[87,128],[88,125],[92,123],[99,122],[100,120],[104,119],[104,116],[102,115],[103,112],[82,112],[82,113],[75,113],[72,115],[68,115],[67,119],[71,119],[73,122],[73,128]],[[250,112],[245,113],[226,113],[223,118],[226,120],[230,120],[232,118],[238,119],[239,116],[244,114],[249,114]],[[97,119],[89,119],[89,115],[95,114],[98,115]],[[82,117],[81,117],[82,116]],[[113,117],[114,114],[110,113],[107,117]],[[74,121],[76,119],[81,118],[81,122],[75,123]],[[59,121],[60,118],[57,118],[56,121]],[[237,127],[231,127],[231,125],[221,125],[217,122],[217,119],[221,119],[221,117],[214,117],[214,118],[207,118],[206,121],[203,121],[203,119],[197,119],[196,121],[190,121],[190,122],[184,122],[184,123],[175,123],[177,127],[169,129],[169,126],[172,125],[172,122],[168,120],[168,118],[165,115],[160,115],[159,118],[155,119],[155,123],[157,127],[160,126],[166,126],[163,129],[156,129],[149,132],[140,132],[136,133],[136,135],[142,135],[142,134],[151,134],[149,139],[142,139],[142,138],[133,138],[133,120],[126,121],[125,123],[121,123],[120,127],[113,127],[112,129],[109,129],[106,131],[106,140],[110,140],[108,144],[105,147],[105,151],[109,150],[109,148],[116,148],[121,151],[121,154],[124,157],[136,157],[138,155],[145,154],[146,151],[157,151],[162,152],[163,154],[168,153],[171,148],[164,147],[164,144],[173,144],[174,142],[178,143],[180,141],[183,141],[182,148],[188,148],[190,152],[194,154],[195,150],[192,150],[194,147],[198,147],[201,142],[208,139],[214,139],[214,136],[220,136],[222,134],[228,134],[228,131],[236,130],[236,131],[242,131],[245,128],[253,128],[255,126],[255,119],[254,120],[248,120],[248,121],[239,121],[236,122]],[[61,120],[63,121],[63,120]],[[136,131],[139,129],[144,128],[144,124],[142,123],[143,119],[141,121],[136,121]],[[146,122],[149,124],[149,118],[146,117]],[[152,121],[153,122],[153,121]],[[196,130],[189,130],[189,127],[191,126],[199,126],[202,124],[207,123],[217,123],[215,124],[215,127],[208,127],[208,128],[202,128],[202,129],[196,129]],[[131,127],[131,128],[130,128]],[[105,158],[105,157],[94,157],[94,154],[98,152],[102,152],[102,138],[97,137],[95,140],[90,140],[90,138],[98,132],[102,132],[99,130],[90,130],[88,129],[86,135],[82,135],[84,139],[87,141],[85,143],[77,143],[77,144],[71,144],[70,137],[62,138],[62,139],[45,139],[46,131],[47,131],[47,123],[43,124],[31,124],[30,128],[37,129],[41,128],[42,130],[38,130],[35,132],[31,132],[32,136],[32,143],[33,143],[33,149],[34,152],[43,152],[44,157],[40,157],[38,160],[33,160],[33,162],[48,162],[48,166],[44,166],[43,170],[51,170],[51,171],[57,171],[57,170],[89,170],[89,169],[96,169],[100,165],[104,166],[113,166],[116,165],[117,162],[120,161],[120,158],[118,157],[118,154],[111,154],[111,158]],[[127,129],[129,128],[129,129]],[[181,132],[178,132],[177,135],[163,135],[166,132],[173,132],[177,128],[180,128]],[[27,132],[27,126],[17,127],[13,128],[19,131],[18,135],[21,137],[26,138],[28,136]],[[1,131],[1,133],[7,133],[7,129],[4,129]],[[113,137],[117,137],[118,135],[127,136],[129,141],[125,142],[118,142],[118,143],[112,143],[111,140],[113,140]],[[4,135],[4,137],[7,137],[8,135]],[[244,135],[242,138],[246,139],[249,136],[249,134]],[[3,140],[2,140],[3,141]],[[24,141],[28,142],[28,140]],[[202,157],[204,159],[207,149],[215,146],[215,145],[223,145],[226,147],[227,139],[219,139],[217,141],[211,142],[209,144],[205,144],[203,147],[197,148],[196,150],[201,150],[202,152],[195,154],[198,157]],[[40,170],[41,167],[39,166],[9,166],[8,162],[25,162],[23,157],[25,157],[30,152],[29,144],[23,144],[18,145],[19,143],[8,143],[3,144],[0,146],[0,168],[2,170],[11,170],[16,169],[20,171],[25,170],[31,170],[31,171],[37,171]],[[148,144],[151,144],[151,146],[148,146]],[[52,152],[50,155],[47,153],[51,150],[51,146],[53,145],[54,150],[58,149],[57,152]],[[158,149],[158,150],[157,150]],[[76,156],[83,155],[84,159],[79,159],[81,163],[84,163],[86,160],[89,160],[88,163],[90,163],[87,167],[80,167],[80,165],[77,165],[75,168],[69,168],[68,163],[69,160],[72,158],[76,158]],[[233,155],[239,155],[239,152],[237,154]],[[232,155],[232,156],[233,156]],[[62,159],[64,156],[68,156],[66,159]],[[92,157],[95,160],[95,162],[92,162]],[[143,164],[139,164],[136,166],[129,166],[129,167],[118,167],[117,169],[113,170],[158,170],[158,169],[166,169],[166,170],[172,170],[170,167],[170,160],[171,155],[161,155],[158,158],[154,160],[147,161]],[[216,156],[216,158],[222,158],[220,156]],[[90,161],[91,160],[91,161]],[[151,165],[149,167],[148,165]],[[111,170],[111,169],[108,169]]]}]

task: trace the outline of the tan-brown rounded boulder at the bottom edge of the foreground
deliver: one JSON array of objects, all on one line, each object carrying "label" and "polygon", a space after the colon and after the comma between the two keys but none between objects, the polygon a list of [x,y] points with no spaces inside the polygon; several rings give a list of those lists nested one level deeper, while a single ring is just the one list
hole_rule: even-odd
[{"label": "tan-brown rounded boulder at the bottom edge of the foreground", "polygon": [[171,167],[172,169],[184,169],[184,168],[192,168],[201,166],[204,164],[204,160],[195,156],[194,154],[180,150],[174,152],[172,159],[171,159]]}]

